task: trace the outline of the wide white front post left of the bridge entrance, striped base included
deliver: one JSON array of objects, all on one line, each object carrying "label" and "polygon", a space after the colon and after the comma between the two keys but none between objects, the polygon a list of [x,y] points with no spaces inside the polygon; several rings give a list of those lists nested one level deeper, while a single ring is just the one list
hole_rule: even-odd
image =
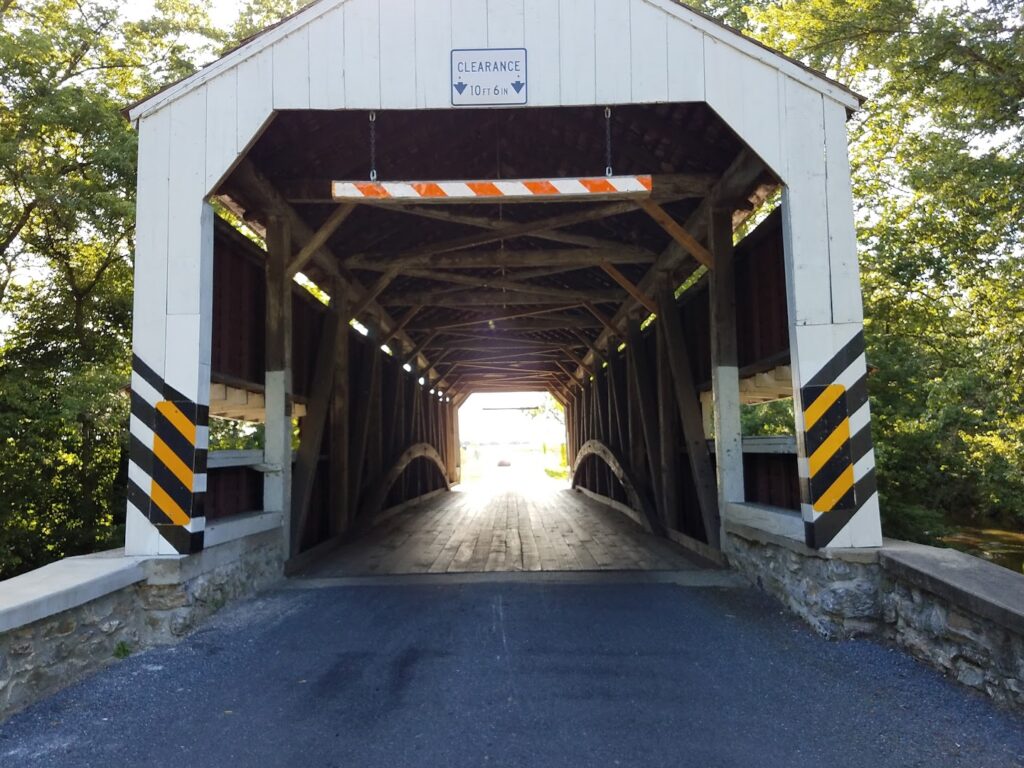
[{"label": "wide white front post left of the bridge entrance, striped base included", "polygon": [[197,115],[204,109],[205,101],[182,99],[139,126],[130,555],[203,549],[214,214],[204,200],[203,157],[196,157],[191,133],[202,127]]}]

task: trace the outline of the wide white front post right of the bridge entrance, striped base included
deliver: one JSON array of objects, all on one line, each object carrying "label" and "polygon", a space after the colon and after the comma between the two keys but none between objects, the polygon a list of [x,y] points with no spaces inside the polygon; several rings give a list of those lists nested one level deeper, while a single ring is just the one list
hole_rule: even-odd
[{"label": "wide white front post right of the bridge entrance, striped base included", "polygon": [[785,108],[782,233],[805,538],[879,547],[846,111],[795,83]]}]

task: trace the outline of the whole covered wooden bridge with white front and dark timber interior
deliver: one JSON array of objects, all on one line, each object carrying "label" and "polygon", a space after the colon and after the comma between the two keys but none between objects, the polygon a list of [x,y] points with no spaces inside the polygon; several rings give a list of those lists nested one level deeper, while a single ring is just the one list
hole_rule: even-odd
[{"label": "whole covered wooden bridge with white front and dark timber interior", "polygon": [[[319,0],[136,104],[128,553],[352,537],[520,390],[655,535],[880,546],[857,108],[671,0]],[[741,435],[788,396],[795,439]]]}]

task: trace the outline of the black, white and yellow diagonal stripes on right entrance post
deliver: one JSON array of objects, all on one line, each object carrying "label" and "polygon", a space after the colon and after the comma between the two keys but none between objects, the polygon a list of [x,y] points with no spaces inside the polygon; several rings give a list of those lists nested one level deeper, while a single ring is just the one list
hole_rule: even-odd
[{"label": "black, white and yellow diagonal stripes on right entrance post", "polygon": [[873,466],[854,478],[854,465],[871,450],[870,424],[855,433],[850,426],[852,417],[867,407],[867,371],[849,388],[838,383],[863,353],[864,335],[858,333],[800,390],[809,467],[801,495],[816,514],[814,522],[805,521],[809,547],[826,546],[877,490]]}]

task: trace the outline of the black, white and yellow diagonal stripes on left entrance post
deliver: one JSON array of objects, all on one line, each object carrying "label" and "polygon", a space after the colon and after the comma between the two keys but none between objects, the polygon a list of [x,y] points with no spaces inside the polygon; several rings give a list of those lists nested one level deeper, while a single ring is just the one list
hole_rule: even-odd
[{"label": "black, white and yellow diagonal stripes on left entrance post", "polygon": [[131,392],[128,501],[178,552],[199,552],[203,531],[189,523],[203,516],[204,494],[195,488],[206,473],[206,451],[196,447],[196,433],[207,426],[209,409],[169,387],[138,356],[132,372],[141,381]]}]

